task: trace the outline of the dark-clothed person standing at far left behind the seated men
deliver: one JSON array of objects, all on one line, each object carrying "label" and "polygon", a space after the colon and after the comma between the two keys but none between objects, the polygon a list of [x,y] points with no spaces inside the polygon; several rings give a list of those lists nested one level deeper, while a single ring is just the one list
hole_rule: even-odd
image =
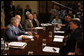
[{"label": "dark-clothed person standing at far left behind the seated men", "polygon": [[15,16],[13,1],[4,1],[5,25],[10,24],[11,17]]}]

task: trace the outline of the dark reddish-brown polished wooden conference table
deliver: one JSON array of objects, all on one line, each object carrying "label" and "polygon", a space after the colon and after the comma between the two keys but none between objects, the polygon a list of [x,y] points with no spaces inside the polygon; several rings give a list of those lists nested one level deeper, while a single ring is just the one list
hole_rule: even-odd
[{"label": "dark reddish-brown polished wooden conference table", "polygon": [[[52,32],[52,37],[49,37],[49,32]],[[27,46],[24,49],[13,49],[10,48],[7,51],[7,55],[28,55],[29,51],[33,51],[33,55],[60,55],[59,53],[51,53],[51,52],[43,52],[43,39],[46,39],[46,46],[51,46],[51,47],[58,47],[62,48],[64,46],[64,40],[63,42],[53,42],[54,38],[54,26],[46,26],[45,30],[43,29],[38,29],[37,34],[34,33],[33,31],[33,36],[34,36],[34,41],[31,41],[31,39],[27,40],[22,40],[20,42],[26,42]],[[37,36],[36,36],[37,35]],[[64,34],[59,34],[59,35],[64,35]]]}]

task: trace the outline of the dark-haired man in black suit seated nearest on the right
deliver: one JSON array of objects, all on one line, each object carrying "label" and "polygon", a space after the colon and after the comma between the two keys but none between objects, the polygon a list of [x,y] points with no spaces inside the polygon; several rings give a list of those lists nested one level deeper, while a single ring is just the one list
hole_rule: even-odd
[{"label": "dark-haired man in black suit seated nearest on the right", "polygon": [[61,50],[61,54],[63,55],[74,55],[76,41],[81,38],[80,22],[78,20],[72,20],[69,24],[72,31],[66,41],[66,45]]}]

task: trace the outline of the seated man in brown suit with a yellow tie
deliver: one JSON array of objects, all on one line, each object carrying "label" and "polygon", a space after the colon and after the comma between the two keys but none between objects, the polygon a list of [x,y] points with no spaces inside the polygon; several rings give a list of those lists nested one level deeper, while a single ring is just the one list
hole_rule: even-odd
[{"label": "seated man in brown suit with a yellow tie", "polygon": [[33,15],[32,14],[28,14],[28,19],[25,21],[25,30],[28,31],[28,30],[32,30],[34,28],[33,26]]}]

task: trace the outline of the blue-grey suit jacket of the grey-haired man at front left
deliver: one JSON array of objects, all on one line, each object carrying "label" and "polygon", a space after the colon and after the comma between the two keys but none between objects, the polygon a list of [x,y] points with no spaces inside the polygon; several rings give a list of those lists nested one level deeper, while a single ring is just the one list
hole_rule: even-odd
[{"label": "blue-grey suit jacket of the grey-haired man at front left", "polygon": [[5,41],[15,41],[18,36],[25,34],[24,31],[21,31],[18,27],[14,27],[12,24],[9,24],[5,29]]}]

